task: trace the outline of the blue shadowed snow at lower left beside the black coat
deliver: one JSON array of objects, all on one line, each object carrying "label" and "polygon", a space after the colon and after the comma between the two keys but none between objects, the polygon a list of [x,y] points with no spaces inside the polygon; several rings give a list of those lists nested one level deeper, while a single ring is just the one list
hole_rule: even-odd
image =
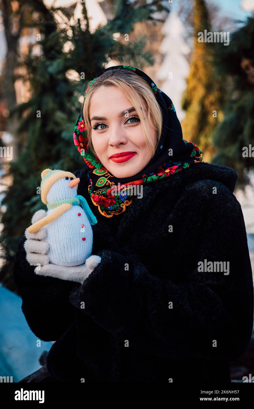
[{"label": "blue shadowed snow at lower left beside the black coat", "polygon": [[0,376],[12,376],[18,382],[41,368],[39,358],[52,343],[41,341],[29,328],[21,310],[22,299],[0,286]]}]

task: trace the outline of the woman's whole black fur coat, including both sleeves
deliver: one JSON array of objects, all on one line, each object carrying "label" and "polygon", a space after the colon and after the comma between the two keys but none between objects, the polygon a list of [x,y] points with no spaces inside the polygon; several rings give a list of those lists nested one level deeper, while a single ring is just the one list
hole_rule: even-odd
[{"label": "woman's whole black fur coat, including both sleeves", "polygon": [[[144,185],[126,211],[97,217],[101,263],[81,285],[38,276],[25,237],[14,281],[33,333],[56,341],[47,368],[59,382],[230,383],[253,326],[253,281],[234,170],[208,163]],[[216,188],[216,189],[214,189]],[[216,191],[216,193],[214,193]],[[172,227],[170,227],[172,226]],[[227,273],[198,263],[229,263]],[[225,270],[224,270],[225,271]],[[85,308],[82,308],[85,307]]]}]

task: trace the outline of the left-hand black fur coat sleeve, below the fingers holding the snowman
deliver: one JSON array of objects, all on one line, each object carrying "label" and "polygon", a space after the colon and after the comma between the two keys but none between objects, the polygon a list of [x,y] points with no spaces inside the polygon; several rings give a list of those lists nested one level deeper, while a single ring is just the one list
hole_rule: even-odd
[{"label": "left-hand black fur coat sleeve, below the fingers holding the snowman", "polygon": [[25,240],[25,236],[20,240],[13,267],[14,283],[22,298],[22,311],[38,338],[55,341],[74,322],[73,306],[68,298],[79,283],[35,274],[35,267],[26,258]]}]

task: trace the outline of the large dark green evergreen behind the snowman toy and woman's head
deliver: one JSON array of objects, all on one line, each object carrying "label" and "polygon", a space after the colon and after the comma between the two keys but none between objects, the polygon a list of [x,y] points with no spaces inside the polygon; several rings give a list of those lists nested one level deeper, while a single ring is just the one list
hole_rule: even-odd
[{"label": "large dark green evergreen behind the snowman toy and woman's head", "polygon": [[[18,160],[10,164],[13,185],[2,201],[7,211],[1,220],[4,225],[1,243],[6,258],[1,278],[12,290],[13,260],[18,242],[31,224],[33,213],[41,208],[46,210],[38,194],[42,170],[75,171],[84,166],[73,145],[73,126],[86,83],[110,60],[140,69],[153,63],[152,55],[145,49],[144,36],[132,42],[125,41],[136,22],[150,20],[156,23],[162,21],[155,18],[156,12],[168,13],[166,1],[153,0],[144,7],[145,4],[137,0],[113,1],[113,18],[92,33],[84,2],[83,21],[78,19],[71,24],[73,8],[46,8],[42,0],[29,0],[29,10],[37,16],[30,24],[41,34],[37,43],[41,52],[35,54],[31,45],[27,60],[22,62],[27,69],[24,79],[29,80],[32,97],[17,106],[11,115],[18,112],[20,123],[16,134],[25,133],[27,143]],[[57,24],[55,13],[64,16],[65,27]],[[113,38],[115,33],[120,34],[118,40]],[[66,44],[70,45],[68,49]],[[78,81],[70,79],[73,73],[77,74]]]}]

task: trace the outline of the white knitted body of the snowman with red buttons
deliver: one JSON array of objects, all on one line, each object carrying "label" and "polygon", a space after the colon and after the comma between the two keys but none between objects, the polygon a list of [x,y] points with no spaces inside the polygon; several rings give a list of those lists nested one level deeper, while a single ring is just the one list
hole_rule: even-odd
[{"label": "white knitted body of the snowman with red buttons", "polygon": [[[54,209],[49,209],[47,215]],[[78,213],[81,213],[78,216]],[[82,228],[81,226],[84,225]],[[50,263],[75,266],[85,263],[93,247],[93,230],[80,206],[72,206],[46,225]],[[82,240],[85,237],[86,240]]]}]

